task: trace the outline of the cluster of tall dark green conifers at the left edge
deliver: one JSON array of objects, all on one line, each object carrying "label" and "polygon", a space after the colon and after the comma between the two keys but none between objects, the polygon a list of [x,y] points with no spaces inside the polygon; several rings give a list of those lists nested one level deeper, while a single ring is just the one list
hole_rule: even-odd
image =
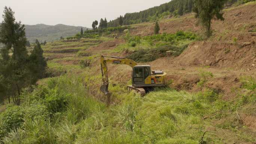
[{"label": "cluster of tall dark green conifers at the left edge", "polygon": [[4,7],[3,22],[0,25],[0,102],[8,98],[9,102],[20,104],[23,88],[36,84],[46,71],[46,60],[38,40],[28,52],[25,25],[16,22],[14,12]]}]

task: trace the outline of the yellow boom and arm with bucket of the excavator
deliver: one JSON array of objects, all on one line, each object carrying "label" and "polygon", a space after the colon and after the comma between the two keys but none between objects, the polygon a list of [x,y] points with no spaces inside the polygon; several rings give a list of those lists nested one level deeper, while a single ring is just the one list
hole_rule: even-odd
[{"label": "yellow boom and arm with bucket of the excavator", "polygon": [[101,85],[100,90],[106,95],[109,93],[109,77],[108,77],[108,73],[107,73],[108,72],[107,63],[126,64],[132,68],[137,65],[137,63],[131,59],[102,55],[100,58],[100,65],[101,65],[101,74],[102,74],[103,85]]}]

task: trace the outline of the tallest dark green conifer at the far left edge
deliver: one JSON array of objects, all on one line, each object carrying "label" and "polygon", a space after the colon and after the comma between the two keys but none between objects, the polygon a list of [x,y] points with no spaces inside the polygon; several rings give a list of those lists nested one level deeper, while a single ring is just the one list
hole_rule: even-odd
[{"label": "tallest dark green conifer at the far left edge", "polygon": [[[3,13],[3,22],[0,25],[0,43],[4,44],[4,48],[0,50],[0,76],[8,95],[11,95],[13,102],[19,105],[21,89],[29,84],[25,25],[15,22],[14,12],[10,7],[4,7]],[[9,55],[10,50],[12,51],[11,56]]]}]

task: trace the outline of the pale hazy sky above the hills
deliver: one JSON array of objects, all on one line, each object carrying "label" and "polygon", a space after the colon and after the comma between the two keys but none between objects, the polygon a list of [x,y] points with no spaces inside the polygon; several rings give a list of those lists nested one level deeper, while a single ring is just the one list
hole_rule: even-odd
[{"label": "pale hazy sky above the hills", "polygon": [[[113,20],[127,12],[159,6],[171,0],[0,0],[0,16],[4,6],[11,7],[22,24],[66,24],[91,27],[92,21]],[[3,20],[0,17],[0,22]]]}]

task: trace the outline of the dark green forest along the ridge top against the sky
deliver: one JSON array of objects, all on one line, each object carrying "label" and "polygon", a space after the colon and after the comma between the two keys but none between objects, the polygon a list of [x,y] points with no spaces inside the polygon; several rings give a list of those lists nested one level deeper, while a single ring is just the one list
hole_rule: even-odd
[{"label": "dark green forest along the ridge top against the sky", "polygon": [[[243,4],[254,0],[227,0],[226,6],[232,4]],[[158,18],[172,17],[184,15],[192,12],[193,0],[172,0],[168,3],[155,6],[140,12],[126,13],[124,16],[119,16],[117,19],[108,22],[108,27],[116,27],[119,25],[121,17],[123,25],[138,24],[141,22],[155,21]]]}]

